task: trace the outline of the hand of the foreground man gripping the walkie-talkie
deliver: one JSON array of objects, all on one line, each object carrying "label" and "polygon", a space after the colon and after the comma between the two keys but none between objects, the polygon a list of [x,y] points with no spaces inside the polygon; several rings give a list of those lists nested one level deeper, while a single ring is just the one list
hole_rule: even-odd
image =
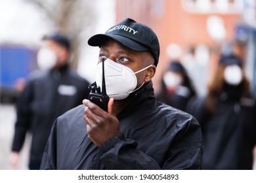
[{"label": "hand of the foreground man gripping the walkie-talkie", "polygon": [[87,99],[83,100],[83,104],[86,106],[83,119],[87,123],[87,134],[96,146],[102,146],[106,141],[121,133],[119,121],[114,112],[113,98],[108,102],[108,112]]}]

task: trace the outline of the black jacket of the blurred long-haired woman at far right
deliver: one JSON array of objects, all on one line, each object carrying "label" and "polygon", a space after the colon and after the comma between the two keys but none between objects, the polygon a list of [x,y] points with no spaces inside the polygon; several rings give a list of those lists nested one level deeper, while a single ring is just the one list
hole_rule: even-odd
[{"label": "black jacket of the blurred long-haired woman at far right", "polygon": [[202,126],[202,169],[252,169],[256,145],[255,99],[228,99],[223,93],[217,113],[205,107],[205,98],[192,99],[188,112]]}]

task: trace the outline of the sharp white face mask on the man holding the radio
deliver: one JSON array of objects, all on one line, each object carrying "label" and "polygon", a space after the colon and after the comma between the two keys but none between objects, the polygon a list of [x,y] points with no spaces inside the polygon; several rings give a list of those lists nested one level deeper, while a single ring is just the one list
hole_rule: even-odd
[{"label": "sharp white face mask on the man holding the radio", "polygon": [[[135,91],[137,86],[137,77],[135,74],[140,73],[151,66],[152,65],[148,65],[148,67],[134,73],[129,67],[116,63],[111,59],[106,59],[104,61],[106,93],[110,98],[112,97],[115,100],[125,99],[130,93]],[[98,63],[96,67],[96,84],[102,88],[102,62]],[[144,82],[142,85],[143,84]]]}]

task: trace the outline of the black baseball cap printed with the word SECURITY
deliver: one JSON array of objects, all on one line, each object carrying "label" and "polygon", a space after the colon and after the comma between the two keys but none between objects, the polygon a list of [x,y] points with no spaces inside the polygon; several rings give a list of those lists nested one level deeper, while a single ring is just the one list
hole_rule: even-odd
[{"label": "black baseball cap printed with the word SECURITY", "polygon": [[112,26],[106,33],[97,34],[88,40],[90,46],[101,46],[106,39],[114,39],[127,48],[135,51],[149,50],[154,56],[154,65],[158,65],[160,46],[156,33],[147,25],[126,18]]}]

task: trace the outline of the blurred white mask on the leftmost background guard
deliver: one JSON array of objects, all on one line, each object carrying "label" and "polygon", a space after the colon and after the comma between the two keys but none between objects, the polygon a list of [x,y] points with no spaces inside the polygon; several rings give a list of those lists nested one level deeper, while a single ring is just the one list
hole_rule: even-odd
[{"label": "blurred white mask on the leftmost background guard", "polygon": [[50,48],[41,48],[37,52],[37,65],[39,69],[52,69],[57,63],[57,56]]}]

